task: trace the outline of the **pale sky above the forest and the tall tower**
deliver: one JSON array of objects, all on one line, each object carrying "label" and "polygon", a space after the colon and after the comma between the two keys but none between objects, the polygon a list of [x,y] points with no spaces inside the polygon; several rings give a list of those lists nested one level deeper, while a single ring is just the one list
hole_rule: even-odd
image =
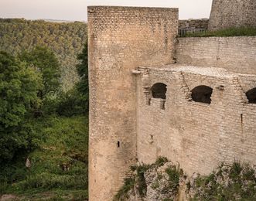
[{"label": "pale sky above the forest and the tall tower", "polygon": [[179,19],[209,18],[212,0],[0,0],[0,18],[87,21],[88,5],[179,8]]}]

